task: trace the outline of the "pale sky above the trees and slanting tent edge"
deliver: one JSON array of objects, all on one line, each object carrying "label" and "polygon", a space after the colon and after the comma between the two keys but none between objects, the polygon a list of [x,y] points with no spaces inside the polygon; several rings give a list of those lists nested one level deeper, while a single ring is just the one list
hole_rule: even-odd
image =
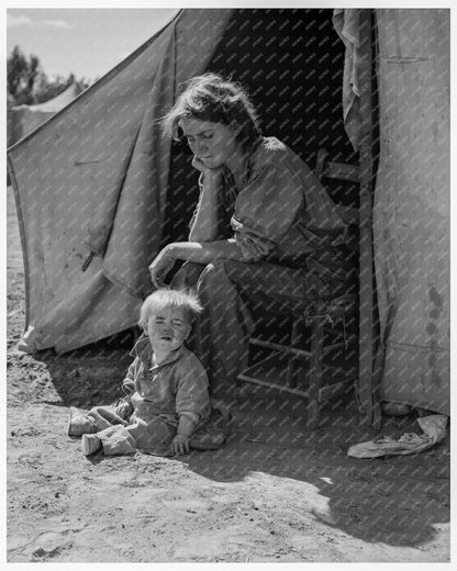
[{"label": "pale sky above the trees and slanting tent edge", "polygon": [[177,12],[175,9],[8,9],[7,53],[15,45],[53,76],[93,80],[122,61]]}]

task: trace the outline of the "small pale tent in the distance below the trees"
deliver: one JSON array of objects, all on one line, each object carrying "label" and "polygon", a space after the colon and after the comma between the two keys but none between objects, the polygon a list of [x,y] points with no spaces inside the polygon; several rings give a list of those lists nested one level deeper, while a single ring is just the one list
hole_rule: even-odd
[{"label": "small pale tent in the distance below the trees", "polygon": [[7,116],[8,145],[13,145],[20,138],[32,133],[54,113],[67,107],[81,91],[82,89],[74,82],[49,101],[36,105],[11,107]]}]

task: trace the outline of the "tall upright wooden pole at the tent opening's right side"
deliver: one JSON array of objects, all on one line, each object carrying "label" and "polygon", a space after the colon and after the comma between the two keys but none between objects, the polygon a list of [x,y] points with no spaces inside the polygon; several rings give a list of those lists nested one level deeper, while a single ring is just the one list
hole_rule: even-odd
[{"label": "tall upright wooden pole at the tent opening's right side", "polygon": [[360,10],[360,63],[359,63],[359,112],[360,112],[360,258],[359,258],[359,400],[365,421],[374,423],[377,403],[374,400],[374,251],[372,251],[372,10]]}]

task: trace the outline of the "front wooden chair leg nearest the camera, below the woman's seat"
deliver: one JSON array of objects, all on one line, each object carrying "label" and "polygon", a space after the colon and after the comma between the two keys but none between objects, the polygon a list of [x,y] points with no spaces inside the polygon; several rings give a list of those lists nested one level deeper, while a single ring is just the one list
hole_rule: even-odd
[{"label": "front wooden chair leg nearest the camera, below the woman's seat", "polygon": [[317,428],[319,425],[319,391],[322,385],[324,357],[324,323],[315,320],[311,333],[311,362],[309,370],[309,400],[306,427]]}]

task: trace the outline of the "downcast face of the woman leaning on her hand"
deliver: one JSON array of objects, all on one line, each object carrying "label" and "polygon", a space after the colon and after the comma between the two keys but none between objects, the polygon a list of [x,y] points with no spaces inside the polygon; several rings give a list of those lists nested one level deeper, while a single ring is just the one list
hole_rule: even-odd
[{"label": "downcast face of the woman leaning on her hand", "polygon": [[191,152],[207,168],[226,165],[238,150],[235,133],[227,125],[198,119],[181,119],[179,126]]}]

